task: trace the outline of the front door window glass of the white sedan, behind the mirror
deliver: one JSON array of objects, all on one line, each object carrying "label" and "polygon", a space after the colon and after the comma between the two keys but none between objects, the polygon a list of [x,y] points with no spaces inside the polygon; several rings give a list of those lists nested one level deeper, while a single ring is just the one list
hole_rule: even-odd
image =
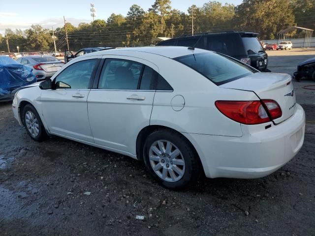
[{"label": "front door window glass of the white sedan, behind the mirror", "polygon": [[88,89],[96,61],[82,60],[65,68],[55,79],[56,89]]}]

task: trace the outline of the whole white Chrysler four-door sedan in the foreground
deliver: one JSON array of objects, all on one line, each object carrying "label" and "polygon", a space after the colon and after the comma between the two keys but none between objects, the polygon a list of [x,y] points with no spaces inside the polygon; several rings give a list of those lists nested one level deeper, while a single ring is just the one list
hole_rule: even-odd
[{"label": "whole white Chrysler four-door sedan in the foreground", "polygon": [[19,90],[14,117],[33,140],[57,135],[143,160],[169,188],[256,178],[304,141],[291,76],[187,47],[98,51]]}]

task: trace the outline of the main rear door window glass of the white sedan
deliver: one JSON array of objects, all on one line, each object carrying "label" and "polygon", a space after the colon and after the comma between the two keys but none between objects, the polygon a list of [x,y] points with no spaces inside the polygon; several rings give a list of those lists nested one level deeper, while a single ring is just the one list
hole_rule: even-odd
[{"label": "main rear door window glass of the white sedan", "polygon": [[137,89],[143,64],[123,59],[106,59],[98,89]]}]

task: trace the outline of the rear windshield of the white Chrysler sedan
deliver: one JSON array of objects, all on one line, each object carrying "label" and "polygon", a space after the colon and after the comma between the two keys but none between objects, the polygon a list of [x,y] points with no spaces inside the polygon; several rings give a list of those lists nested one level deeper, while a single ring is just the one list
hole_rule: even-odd
[{"label": "rear windshield of the white Chrysler sedan", "polygon": [[174,60],[189,66],[216,85],[222,85],[256,72],[237,60],[217,53],[197,53],[174,58]]}]

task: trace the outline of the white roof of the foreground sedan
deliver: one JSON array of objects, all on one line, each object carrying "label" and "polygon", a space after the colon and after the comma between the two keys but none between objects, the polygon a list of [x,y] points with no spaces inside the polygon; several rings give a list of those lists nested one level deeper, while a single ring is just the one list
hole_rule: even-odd
[{"label": "white roof of the foreground sedan", "polygon": [[[199,48],[194,48],[194,50],[191,50],[189,49],[189,47],[180,47],[180,46],[149,46],[149,47],[115,48],[115,49],[94,52],[92,54],[130,56],[132,52],[155,54],[155,55],[159,55],[166,58],[177,58],[177,57],[182,57],[182,56],[186,56],[193,53],[202,53],[202,52],[209,53],[209,51],[199,49]],[[89,57],[91,56],[91,53],[86,54],[84,56]]]}]

